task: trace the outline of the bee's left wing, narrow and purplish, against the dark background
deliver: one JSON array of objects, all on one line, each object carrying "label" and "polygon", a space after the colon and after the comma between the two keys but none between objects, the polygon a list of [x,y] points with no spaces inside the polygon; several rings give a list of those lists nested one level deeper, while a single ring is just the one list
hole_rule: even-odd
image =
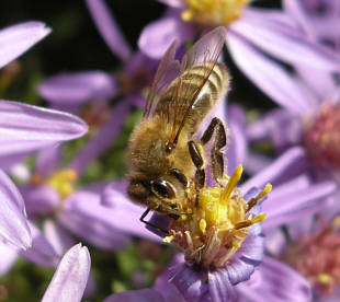
[{"label": "bee's left wing, narrow and purplish, against the dark background", "polygon": [[161,91],[171,82],[179,73],[179,61],[174,60],[178,43],[174,40],[168,48],[166,55],[161,59],[151,84],[147,103],[144,107],[143,118],[152,115],[152,112],[158,103]]}]

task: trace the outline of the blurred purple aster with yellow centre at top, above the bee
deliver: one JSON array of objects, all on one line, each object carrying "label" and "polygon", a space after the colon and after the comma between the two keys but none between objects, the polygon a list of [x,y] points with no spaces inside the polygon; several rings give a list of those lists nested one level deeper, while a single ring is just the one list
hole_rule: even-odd
[{"label": "blurred purple aster with yellow centre at top, above the bee", "polygon": [[298,23],[283,11],[251,8],[251,1],[242,0],[161,2],[170,9],[144,28],[138,42],[151,58],[162,56],[174,39],[185,44],[202,28],[226,25],[226,45],[235,63],[271,97],[277,94],[275,82],[282,79],[276,77],[280,66],[270,57],[318,70],[339,70],[340,56],[310,42]]}]

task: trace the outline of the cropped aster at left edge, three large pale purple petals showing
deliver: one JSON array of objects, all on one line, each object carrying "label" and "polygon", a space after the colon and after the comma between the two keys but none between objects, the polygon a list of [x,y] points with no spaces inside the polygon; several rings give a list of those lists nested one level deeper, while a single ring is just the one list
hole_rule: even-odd
[{"label": "cropped aster at left edge, three large pale purple petals showing", "polygon": [[[41,22],[25,22],[0,31],[0,67],[14,60],[50,30]],[[0,167],[9,169],[30,152],[84,135],[87,125],[70,114],[0,100]],[[1,239],[16,247],[31,245],[24,201],[2,172],[0,181]]]}]

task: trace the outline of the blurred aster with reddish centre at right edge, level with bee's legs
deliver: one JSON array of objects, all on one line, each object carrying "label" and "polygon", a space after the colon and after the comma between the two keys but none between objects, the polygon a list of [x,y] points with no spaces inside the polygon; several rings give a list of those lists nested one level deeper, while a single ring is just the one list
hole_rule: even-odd
[{"label": "blurred aster with reddish centre at right edge, level with bee's legs", "polygon": [[[329,81],[329,74],[322,77],[321,73],[314,80],[314,89],[309,89],[301,78],[283,73],[283,70],[280,72],[286,78],[277,82],[277,97],[273,101],[283,108],[269,112],[250,124],[248,139],[271,141],[277,152],[299,146],[306,150],[306,167],[311,169],[315,177],[332,177],[338,182],[340,123],[336,82]],[[324,94],[317,91],[324,91]],[[259,163],[259,159],[256,160]]]}]

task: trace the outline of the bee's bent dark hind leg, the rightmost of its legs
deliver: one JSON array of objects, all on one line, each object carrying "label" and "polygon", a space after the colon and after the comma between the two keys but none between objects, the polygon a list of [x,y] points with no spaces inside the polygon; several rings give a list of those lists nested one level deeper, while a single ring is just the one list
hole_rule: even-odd
[{"label": "bee's bent dark hind leg, the rightmost of its legs", "polygon": [[203,137],[201,138],[202,144],[207,143],[214,133],[214,144],[211,152],[212,173],[214,179],[222,185],[220,179],[224,172],[224,160],[220,149],[227,144],[227,136],[225,127],[218,117],[212,119],[211,125],[203,133]]}]

